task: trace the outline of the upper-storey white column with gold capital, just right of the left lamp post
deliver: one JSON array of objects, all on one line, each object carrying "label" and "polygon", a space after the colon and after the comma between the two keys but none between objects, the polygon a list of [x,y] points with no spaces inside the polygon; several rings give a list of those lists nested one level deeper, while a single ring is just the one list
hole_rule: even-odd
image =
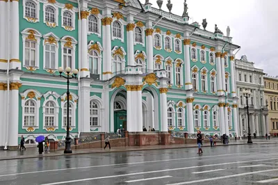
[{"label": "upper-storey white column with gold capital, just right of the left lamp post", "polygon": [[81,77],[90,77],[88,66],[88,49],[87,49],[87,11],[81,11]]}]

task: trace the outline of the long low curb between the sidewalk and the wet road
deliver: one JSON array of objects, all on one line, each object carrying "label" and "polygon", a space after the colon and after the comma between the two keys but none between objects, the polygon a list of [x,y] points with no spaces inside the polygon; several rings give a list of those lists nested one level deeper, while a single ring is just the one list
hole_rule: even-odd
[{"label": "long low curb between the sidewalk and the wet road", "polygon": [[[253,143],[253,145],[262,145],[262,144],[277,144],[278,142],[263,142],[263,143]],[[234,146],[234,145],[251,145],[248,143],[233,143],[228,145],[217,145],[217,147],[228,147],[228,146]],[[14,156],[14,157],[7,157],[7,158],[1,158],[0,161],[8,161],[8,160],[14,160],[14,159],[33,159],[33,158],[44,158],[44,157],[51,157],[51,156],[72,156],[72,155],[81,155],[81,154],[99,154],[99,153],[112,153],[112,152],[133,152],[133,151],[143,151],[143,150],[170,150],[170,149],[179,149],[179,148],[193,148],[197,146],[188,146],[188,147],[164,147],[164,148],[134,148],[134,149],[125,149],[125,150],[115,150],[115,151],[88,151],[88,152],[76,152],[72,154],[49,154],[49,155],[32,155],[32,156]],[[211,147],[211,145],[203,145],[202,147]]]}]

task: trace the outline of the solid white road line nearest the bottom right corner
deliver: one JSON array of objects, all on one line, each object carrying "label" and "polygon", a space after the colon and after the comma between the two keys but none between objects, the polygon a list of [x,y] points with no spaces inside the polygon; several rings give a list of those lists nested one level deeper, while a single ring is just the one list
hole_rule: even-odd
[{"label": "solid white road line nearest the bottom right corner", "polygon": [[208,179],[199,179],[195,181],[188,181],[188,182],[179,182],[179,183],[174,183],[174,184],[166,184],[166,185],[182,185],[182,184],[192,184],[192,183],[199,183],[199,182],[207,182],[207,181],[214,181],[214,180],[219,180],[219,179],[227,179],[231,177],[240,177],[243,175],[252,175],[260,172],[273,172],[273,171],[278,171],[278,169],[272,169],[272,170],[261,170],[261,171],[256,171],[256,172],[245,172],[245,173],[240,173],[240,174],[235,174],[235,175],[226,175],[222,177],[213,177],[213,178],[208,178]]}]

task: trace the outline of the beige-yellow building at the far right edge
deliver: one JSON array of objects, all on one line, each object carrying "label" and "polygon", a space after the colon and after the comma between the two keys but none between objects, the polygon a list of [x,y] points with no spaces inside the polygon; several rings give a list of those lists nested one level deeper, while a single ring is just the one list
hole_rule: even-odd
[{"label": "beige-yellow building at the far right edge", "polygon": [[265,100],[268,106],[268,128],[273,136],[278,133],[278,77],[265,76],[263,80]]}]

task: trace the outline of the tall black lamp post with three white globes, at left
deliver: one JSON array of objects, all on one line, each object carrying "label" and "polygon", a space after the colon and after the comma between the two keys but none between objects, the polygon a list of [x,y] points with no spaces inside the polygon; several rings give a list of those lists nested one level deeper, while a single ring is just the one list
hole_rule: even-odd
[{"label": "tall black lamp post with three white globes, at left", "polygon": [[[67,76],[63,76],[63,67],[58,67],[58,72],[60,72],[60,77],[64,77],[67,79],[67,136],[65,137],[65,151],[64,154],[71,154],[72,148],[70,147],[70,79],[76,79],[76,74],[78,73],[78,70],[74,69],[72,70],[70,67],[65,68],[65,74]],[[73,76],[70,77],[70,73],[72,72]]]}]

